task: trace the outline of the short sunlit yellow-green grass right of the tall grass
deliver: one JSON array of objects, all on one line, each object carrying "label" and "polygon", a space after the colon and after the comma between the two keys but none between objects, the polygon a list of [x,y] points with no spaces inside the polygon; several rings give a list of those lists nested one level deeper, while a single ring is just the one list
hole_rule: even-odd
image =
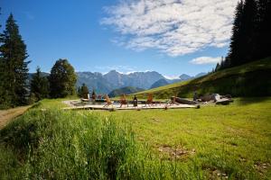
[{"label": "short sunlit yellow-green grass right of the tall grass", "polygon": [[157,156],[168,157],[159,151],[164,145],[195,149],[195,156],[185,157],[186,162],[197,161],[206,171],[220,169],[248,177],[270,175],[270,109],[271,98],[262,97],[201,109],[102,114],[132,124],[136,139],[147,142]]}]

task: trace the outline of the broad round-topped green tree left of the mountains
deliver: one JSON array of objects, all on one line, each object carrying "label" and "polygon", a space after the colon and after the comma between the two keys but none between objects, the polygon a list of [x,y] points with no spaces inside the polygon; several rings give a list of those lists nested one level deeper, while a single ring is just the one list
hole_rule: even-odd
[{"label": "broad round-topped green tree left of the mountains", "polygon": [[57,60],[51,67],[51,75],[49,76],[51,97],[58,98],[74,94],[76,80],[74,68],[68,60]]}]

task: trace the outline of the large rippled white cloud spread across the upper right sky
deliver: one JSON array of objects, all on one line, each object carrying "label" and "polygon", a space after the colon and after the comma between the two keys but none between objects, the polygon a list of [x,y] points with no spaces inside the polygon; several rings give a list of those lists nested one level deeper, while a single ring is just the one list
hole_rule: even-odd
[{"label": "large rippled white cloud spread across the upper right sky", "polygon": [[[159,49],[180,56],[228,44],[238,0],[120,0],[106,7],[101,24],[121,37],[130,49]],[[116,40],[115,40],[116,41]]]}]

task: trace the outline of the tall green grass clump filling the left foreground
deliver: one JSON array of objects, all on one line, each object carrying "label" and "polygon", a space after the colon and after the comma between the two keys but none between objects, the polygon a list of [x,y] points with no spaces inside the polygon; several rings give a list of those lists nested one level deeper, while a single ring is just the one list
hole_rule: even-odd
[{"label": "tall green grass clump filling the left foreground", "polygon": [[129,126],[94,113],[34,108],[0,131],[0,152],[0,179],[205,178],[196,162],[163,161]]}]

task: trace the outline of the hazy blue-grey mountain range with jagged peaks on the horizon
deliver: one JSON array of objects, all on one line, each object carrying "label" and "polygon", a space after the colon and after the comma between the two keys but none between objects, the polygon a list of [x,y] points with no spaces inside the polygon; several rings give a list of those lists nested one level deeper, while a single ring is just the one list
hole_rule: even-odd
[{"label": "hazy blue-grey mountain range with jagged peaks on the horizon", "polygon": [[[42,76],[49,76],[48,73],[42,73]],[[200,73],[196,76],[182,74],[179,78],[168,79],[155,71],[134,72],[130,74],[122,74],[116,70],[111,70],[107,74],[95,72],[77,72],[78,80],[76,85],[83,83],[89,87],[89,91],[95,89],[98,94],[108,94],[115,89],[122,87],[136,87],[141,89],[149,89],[162,85],[173,84],[175,82],[189,80],[198,76],[204,76],[206,73]],[[32,79],[33,73],[29,74],[28,82]]]}]

